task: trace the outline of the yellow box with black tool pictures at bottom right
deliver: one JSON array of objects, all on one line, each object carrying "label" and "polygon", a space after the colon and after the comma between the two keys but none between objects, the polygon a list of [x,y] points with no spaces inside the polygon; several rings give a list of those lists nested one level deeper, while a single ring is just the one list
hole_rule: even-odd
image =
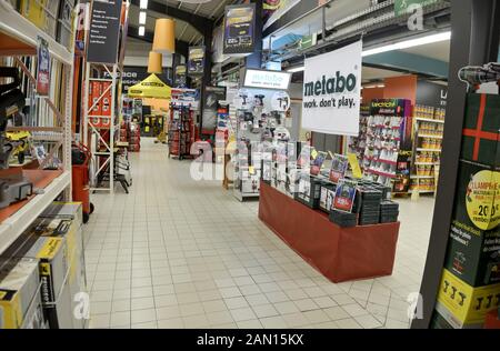
[{"label": "yellow box with black tool pictures at bottom right", "polygon": [[473,288],[443,270],[436,310],[452,328],[481,328],[486,315],[499,307],[500,283]]}]

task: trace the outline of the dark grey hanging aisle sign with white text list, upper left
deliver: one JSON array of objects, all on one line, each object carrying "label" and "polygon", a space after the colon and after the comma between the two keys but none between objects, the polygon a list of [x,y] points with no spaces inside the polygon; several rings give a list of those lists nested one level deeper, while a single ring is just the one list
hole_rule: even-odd
[{"label": "dark grey hanging aisle sign with white text list, upper left", "polygon": [[122,1],[92,2],[87,61],[114,64],[118,61]]}]

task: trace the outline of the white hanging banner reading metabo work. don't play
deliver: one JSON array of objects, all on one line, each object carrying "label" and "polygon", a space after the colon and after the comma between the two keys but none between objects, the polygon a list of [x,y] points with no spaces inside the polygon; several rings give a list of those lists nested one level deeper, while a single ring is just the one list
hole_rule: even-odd
[{"label": "white hanging banner reading metabo work. don't play", "polygon": [[362,48],[359,41],[306,60],[303,129],[358,136]]}]

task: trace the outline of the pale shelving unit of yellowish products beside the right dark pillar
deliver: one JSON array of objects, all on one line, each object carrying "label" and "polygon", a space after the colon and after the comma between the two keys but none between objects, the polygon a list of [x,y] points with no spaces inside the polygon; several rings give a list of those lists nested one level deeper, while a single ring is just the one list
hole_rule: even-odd
[{"label": "pale shelving unit of yellowish products beside the right dark pillar", "polygon": [[444,110],[416,106],[410,193],[436,193],[444,129]]}]

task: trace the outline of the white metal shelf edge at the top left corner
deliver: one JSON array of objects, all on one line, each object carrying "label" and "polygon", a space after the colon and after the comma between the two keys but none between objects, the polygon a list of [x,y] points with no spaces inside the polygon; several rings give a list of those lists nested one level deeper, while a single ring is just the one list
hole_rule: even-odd
[{"label": "white metal shelf edge at the top left corner", "polygon": [[[73,56],[72,53],[57,42],[52,37],[43,32],[40,28],[31,23],[28,19],[22,17],[18,11],[16,11],[12,6],[7,0],[0,0],[0,32],[6,33],[7,36],[16,39],[24,44],[28,44],[32,48],[32,51],[26,52],[27,54],[32,56],[33,51],[36,53],[37,50],[37,37],[42,37],[49,43],[49,51],[51,57],[58,59],[61,62],[64,62],[68,66],[72,66]],[[12,52],[9,50],[2,50],[0,48],[0,56],[12,56],[22,54],[21,51]]]}]

